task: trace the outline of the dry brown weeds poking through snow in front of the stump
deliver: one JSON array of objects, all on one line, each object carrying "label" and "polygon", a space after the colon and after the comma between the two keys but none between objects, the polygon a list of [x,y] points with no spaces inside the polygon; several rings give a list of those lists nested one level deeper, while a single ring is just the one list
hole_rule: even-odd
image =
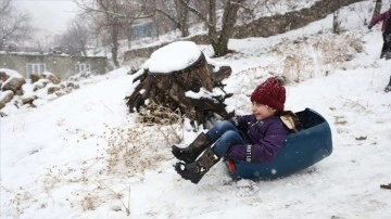
[{"label": "dry brown weeds poking through snow in front of the stump", "polygon": [[182,140],[182,117],[156,104],[153,108],[141,110],[139,119],[142,123],[111,130],[105,158],[110,172],[125,168],[127,175],[133,176],[144,169],[153,169],[160,162],[171,158],[167,145]]}]

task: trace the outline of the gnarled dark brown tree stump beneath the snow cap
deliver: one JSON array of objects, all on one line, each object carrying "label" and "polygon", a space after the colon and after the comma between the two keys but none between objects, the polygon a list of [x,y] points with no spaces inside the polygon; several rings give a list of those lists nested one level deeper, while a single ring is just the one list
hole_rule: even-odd
[{"label": "gnarled dark brown tree stump beneath the snow cap", "polygon": [[[175,62],[175,57],[168,60]],[[200,51],[198,60],[184,69],[169,73],[150,72],[149,68],[139,70],[140,75],[134,80],[139,85],[133,94],[125,98],[129,112],[140,112],[141,107],[153,111],[151,106],[157,104],[186,115],[192,124],[205,125],[206,120],[217,115],[224,119],[231,117],[234,112],[226,111],[224,101],[232,94],[226,93],[222,83],[231,74],[231,68],[222,66],[213,72],[214,68]],[[223,92],[217,94],[213,92],[214,88]]]}]

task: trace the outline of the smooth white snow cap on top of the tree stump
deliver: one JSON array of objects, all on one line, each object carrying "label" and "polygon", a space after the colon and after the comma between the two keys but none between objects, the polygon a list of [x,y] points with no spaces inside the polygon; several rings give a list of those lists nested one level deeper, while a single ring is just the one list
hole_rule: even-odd
[{"label": "smooth white snow cap on top of the tree stump", "polygon": [[143,68],[151,73],[171,73],[193,64],[201,54],[194,42],[176,41],[160,48],[151,54]]}]

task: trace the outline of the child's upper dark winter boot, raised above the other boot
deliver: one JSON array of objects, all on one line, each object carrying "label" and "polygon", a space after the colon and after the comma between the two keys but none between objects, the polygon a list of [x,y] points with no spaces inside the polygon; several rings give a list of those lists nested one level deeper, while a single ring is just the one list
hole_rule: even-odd
[{"label": "child's upper dark winter boot, raised above the other boot", "polygon": [[172,146],[172,152],[176,158],[185,162],[186,164],[192,163],[198,156],[206,149],[211,146],[206,134],[200,133],[195,140],[188,147]]}]

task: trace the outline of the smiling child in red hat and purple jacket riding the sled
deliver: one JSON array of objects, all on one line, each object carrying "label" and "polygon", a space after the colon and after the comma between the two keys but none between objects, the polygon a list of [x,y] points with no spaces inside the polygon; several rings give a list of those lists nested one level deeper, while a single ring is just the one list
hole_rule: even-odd
[{"label": "smiling child in red hat and purple jacket riding the sled", "polygon": [[173,145],[174,156],[181,160],[176,163],[175,170],[197,184],[222,157],[260,164],[272,160],[288,134],[279,117],[285,101],[282,82],[276,77],[268,78],[251,94],[252,115],[216,124],[188,147]]}]

